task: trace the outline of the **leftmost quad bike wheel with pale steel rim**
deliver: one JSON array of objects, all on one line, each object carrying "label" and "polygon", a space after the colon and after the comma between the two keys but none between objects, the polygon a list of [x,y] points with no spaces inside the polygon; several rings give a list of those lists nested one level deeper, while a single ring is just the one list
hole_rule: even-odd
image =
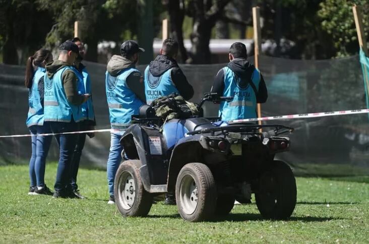
[{"label": "leftmost quad bike wheel with pale steel rim", "polygon": [[140,160],[127,160],[115,174],[114,199],[123,216],[146,216],[150,211],[153,197],[144,189],[140,166]]}]

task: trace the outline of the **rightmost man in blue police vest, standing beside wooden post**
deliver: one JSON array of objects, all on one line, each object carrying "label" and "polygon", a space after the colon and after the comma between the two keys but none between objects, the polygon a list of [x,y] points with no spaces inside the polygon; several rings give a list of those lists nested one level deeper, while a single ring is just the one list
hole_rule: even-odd
[{"label": "rightmost man in blue police vest, standing beside wooden post", "polygon": [[233,97],[222,101],[219,117],[222,121],[257,118],[257,103],[265,103],[268,91],[260,70],[247,60],[243,43],[235,42],[229,49],[229,63],[217,73],[212,93]]}]

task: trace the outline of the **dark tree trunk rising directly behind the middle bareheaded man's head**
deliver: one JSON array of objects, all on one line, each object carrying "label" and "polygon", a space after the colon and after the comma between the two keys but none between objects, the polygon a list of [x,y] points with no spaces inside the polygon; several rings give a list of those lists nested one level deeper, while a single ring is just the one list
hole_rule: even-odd
[{"label": "dark tree trunk rising directly behind the middle bareheaded man's head", "polygon": [[184,19],[184,3],[183,0],[168,1],[168,13],[170,19],[170,31],[174,40],[178,42],[179,56],[178,60],[182,63],[188,59],[187,50],[183,43],[183,19]]}]

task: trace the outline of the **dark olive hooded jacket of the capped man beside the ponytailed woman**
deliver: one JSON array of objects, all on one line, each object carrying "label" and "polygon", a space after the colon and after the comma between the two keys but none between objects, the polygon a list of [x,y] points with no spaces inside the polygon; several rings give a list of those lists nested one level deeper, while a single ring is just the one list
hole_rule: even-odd
[{"label": "dark olive hooded jacket of the capped man beside the ponytailed woman", "polygon": [[[52,76],[61,68],[65,66],[71,66],[67,62],[61,60],[55,60],[52,63],[46,64],[46,74],[51,79]],[[78,94],[77,90],[77,75],[73,70],[67,69],[64,71],[63,76],[61,76],[63,81],[64,91],[66,93],[68,101],[73,105],[83,104],[84,97]]]}]

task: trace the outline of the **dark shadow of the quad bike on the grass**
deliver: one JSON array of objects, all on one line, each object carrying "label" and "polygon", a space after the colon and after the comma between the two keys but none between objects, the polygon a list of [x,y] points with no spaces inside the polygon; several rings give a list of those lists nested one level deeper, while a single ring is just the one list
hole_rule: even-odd
[{"label": "dark shadow of the quad bike on the grass", "polygon": [[[181,218],[179,213],[176,214],[164,214],[164,215],[148,215],[146,218]],[[334,218],[334,217],[314,217],[314,216],[304,216],[304,217],[290,217],[289,219],[283,220],[286,222],[291,221],[302,221],[302,222],[324,222],[329,220],[337,220],[341,218]],[[256,213],[230,213],[223,217],[215,217],[205,222],[244,222],[244,221],[265,221],[265,219],[261,216],[261,214]],[[273,221],[273,220],[272,220]],[[279,220],[275,220],[279,221]]]}]

